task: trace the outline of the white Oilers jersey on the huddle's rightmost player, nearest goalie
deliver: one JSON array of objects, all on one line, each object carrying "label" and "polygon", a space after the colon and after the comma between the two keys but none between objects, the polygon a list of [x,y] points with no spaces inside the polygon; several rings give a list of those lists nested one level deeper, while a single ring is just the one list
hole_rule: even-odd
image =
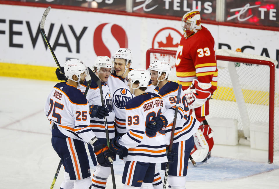
[{"label": "white Oilers jersey on the huddle's rightmost player, nearest goalie", "polygon": [[[167,108],[166,112],[162,110],[162,114],[168,120],[168,125],[165,127],[165,134],[167,137],[167,144],[169,144],[174,121],[178,83],[168,81],[168,83],[166,83],[160,90],[158,89],[159,88],[156,87],[154,92],[159,92],[159,95],[164,99]],[[189,139],[194,133],[196,133],[199,126],[200,122],[189,115],[188,102],[181,90],[173,143]]]}]

